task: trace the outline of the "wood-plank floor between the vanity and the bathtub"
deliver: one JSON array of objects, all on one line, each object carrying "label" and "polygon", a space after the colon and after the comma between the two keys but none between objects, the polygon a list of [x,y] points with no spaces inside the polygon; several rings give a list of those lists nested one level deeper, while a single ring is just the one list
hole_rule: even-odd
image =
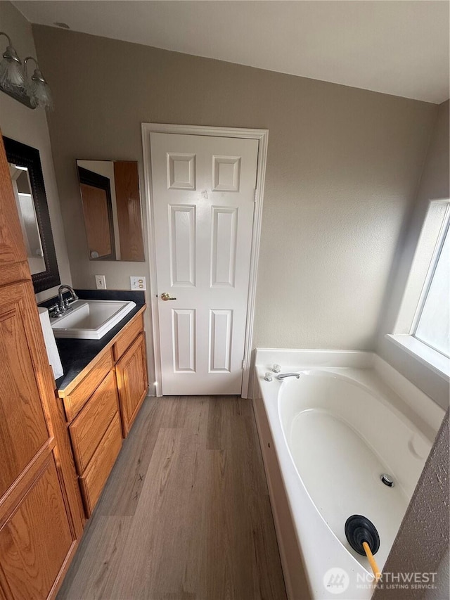
[{"label": "wood-plank floor between the vanity and the bathtub", "polygon": [[58,600],[285,600],[252,403],[148,398]]}]

